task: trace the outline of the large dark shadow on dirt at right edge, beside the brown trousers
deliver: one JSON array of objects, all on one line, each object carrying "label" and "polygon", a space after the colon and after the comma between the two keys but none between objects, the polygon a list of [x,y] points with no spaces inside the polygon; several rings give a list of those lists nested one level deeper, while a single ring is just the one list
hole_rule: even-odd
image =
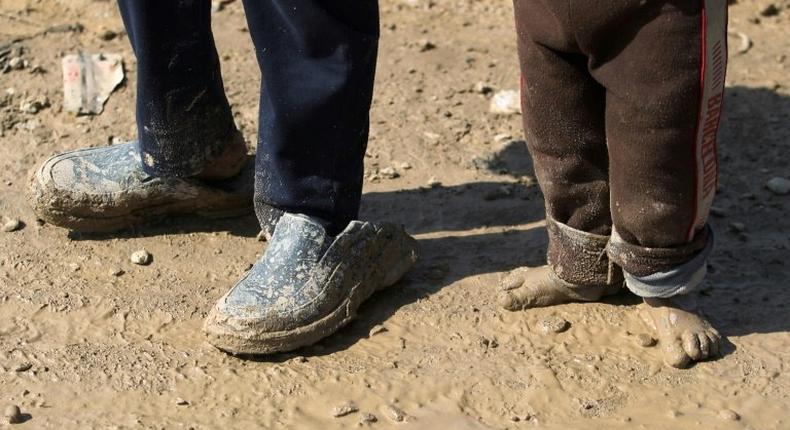
[{"label": "large dark shadow on dirt at right edge, beside the brown trousers", "polygon": [[728,336],[788,332],[790,195],[776,195],[765,183],[790,177],[790,97],[728,88],[718,152],[719,214],[711,218],[718,235],[705,311]]}]

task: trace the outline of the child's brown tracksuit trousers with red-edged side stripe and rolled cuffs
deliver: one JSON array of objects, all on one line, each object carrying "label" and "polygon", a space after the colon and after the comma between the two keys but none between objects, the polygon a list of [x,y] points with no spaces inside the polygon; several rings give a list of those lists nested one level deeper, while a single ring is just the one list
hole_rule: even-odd
[{"label": "child's brown tracksuit trousers with red-edged side stripe and rolled cuffs", "polygon": [[726,0],[514,4],[549,264],[643,297],[692,290],[713,242]]}]

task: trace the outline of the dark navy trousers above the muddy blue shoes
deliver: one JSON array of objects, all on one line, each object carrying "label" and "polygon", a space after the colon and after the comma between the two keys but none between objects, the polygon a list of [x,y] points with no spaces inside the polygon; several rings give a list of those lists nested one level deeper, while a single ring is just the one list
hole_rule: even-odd
[{"label": "dark navy trousers above the muddy blue shoes", "polygon": [[[143,168],[190,176],[236,133],[209,0],[119,0],[137,56]],[[376,0],[245,0],[262,74],[255,203],[339,230],[358,215],[378,47]],[[262,220],[263,222],[263,220]]]}]

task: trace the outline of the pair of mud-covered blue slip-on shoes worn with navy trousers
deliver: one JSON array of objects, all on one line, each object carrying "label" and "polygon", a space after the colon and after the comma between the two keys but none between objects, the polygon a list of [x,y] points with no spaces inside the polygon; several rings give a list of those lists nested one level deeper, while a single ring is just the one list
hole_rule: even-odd
[{"label": "pair of mud-covered blue slip-on shoes worn with navy trousers", "polygon": [[[177,214],[252,212],[252,160],[233,177],[205,181],[147,175],[135,143],[50,158],[33,176],[39,217],[80,231],[112,231]],[[204,332],[235,354],[310,345],[351,321],[374,292],[395,284],[417,259],[400,226],[351,222],[330,236],[310,217],[285,213],[266,252],[211,310]]]}]

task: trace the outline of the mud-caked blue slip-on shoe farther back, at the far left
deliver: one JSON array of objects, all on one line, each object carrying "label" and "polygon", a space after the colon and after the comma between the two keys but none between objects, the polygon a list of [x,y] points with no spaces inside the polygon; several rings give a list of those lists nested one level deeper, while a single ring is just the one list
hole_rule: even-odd
[{"label": "mud-caked blue slip-on shoe farther back, at the far left", "polygon": [[80,149],[45,161],[32,178],[30,201],[51,224],[110,231],[168,215],[252,213],[254,162],[238,175],[206,182],[147,175],[135,142]]}]

